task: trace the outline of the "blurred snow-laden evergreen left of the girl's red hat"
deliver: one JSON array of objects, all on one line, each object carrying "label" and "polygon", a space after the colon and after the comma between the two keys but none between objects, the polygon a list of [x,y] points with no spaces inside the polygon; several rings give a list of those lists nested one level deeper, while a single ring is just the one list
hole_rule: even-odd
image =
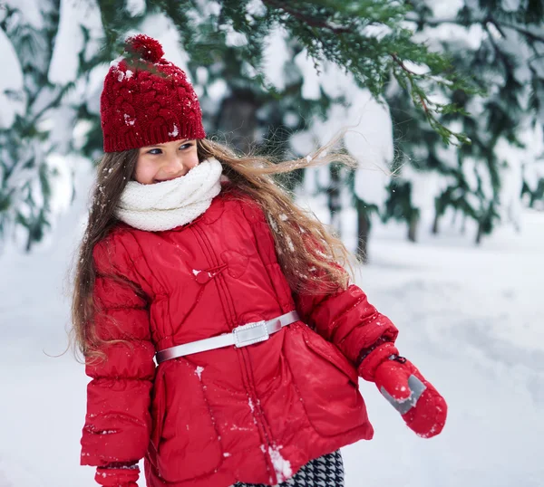
[{"label": "blurred snow-laden evergreen left of the girl's red hat", "polygon": [[[3,111],[10,104],[16,110],[10,123],[0,124],[0,242],[15,235],[30,250],[52,223],[53,156],[82,150],[73,145],[73,128],[78,119],[97,119],[99,91],[87,95],[89,78],[111,53],[100,50],[100,12],[91,0],[8,0],[2,6],[0,49],[14,53],[8,76],[20,72],[22,82],[3,93]],[[95,138],[89,146],[93,135],[96,130],[87,134],[86,155],[101,143]],[[70,179],[66,158],[63,164]]]}]

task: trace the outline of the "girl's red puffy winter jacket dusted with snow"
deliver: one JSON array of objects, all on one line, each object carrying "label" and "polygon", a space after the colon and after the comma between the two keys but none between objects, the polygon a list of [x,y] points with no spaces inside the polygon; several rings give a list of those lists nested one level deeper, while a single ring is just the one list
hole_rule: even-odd
[{"label": "girl's red puffy winter jacket dusted with snow", "polygon": [[[83,464],[145,457],[148,487],[275,484],[372,437],[354,364],[397,330],[354,285],[292,295],[267,221],[248,198],[223,192],[170,231],[119,225],[94,260],[98,332],[125,343],[87,364]],[[302,321],[267,341],[155,367],[156,350],[295,309]]]}]

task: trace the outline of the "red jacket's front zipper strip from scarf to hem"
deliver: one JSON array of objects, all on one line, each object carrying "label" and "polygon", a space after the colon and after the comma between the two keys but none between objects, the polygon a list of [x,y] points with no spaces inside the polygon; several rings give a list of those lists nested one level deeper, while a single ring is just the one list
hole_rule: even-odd
[{"label": "red jacket's front zipper strip from scarf to hem", "polygon": [[[219,258],[217,254],[215,253],[213,246],[209,242],[208,235],[199,228],[199,224],[192,225],[190,229],[193,231],[193,233],[197,236],[197,239],[201,241],[200,246],[204,253],[207,255],[207,259],[209,263],[213,266],[219,266]],[[236,320],[236,311],[234,310],[234,300],[232,299],[232,295],[230,294],[230,291],[228,290],[227,282],[225,282],[225,277],[223,276],[222,272],[219,272],[215,274],[215,282],[218,287],[219,291],[219,299],[223,303],[223,309],[228,310],[228,313],[226,313],[227,319],[228,319],[228,325],[230,329],[238,326],[238,322]],[[255,422],[255,425],[257,425],[257,430],[261,436],[262,448],[261,451],[263,452],[265,456],[265,460],[267,462],[267,468],[268,471],[271,473],[271,482],[276,483],[277,482],[277,475],[274,468],[274,463],[272,462],[272,458],[270,456],[270,450],[272,447],[272,443],[270,441],[270,431],[267,425],[267,421],[265,419],[265,415],[263,414],[262,408],[260,406],[260,401],[257,397],[257,391],[254,387],[254,380],[253,380],[253,374],[251,373],[250,367],[248,365],[249,363],[249,354],[248,350],[245,350],[243,348],[237,349],[238,351],[238,359],[241,362],[241,369],[243,370],[243,382],[244,386],[246,387],[246,393],[248,394],[248,406],[251,409],[251,415],[253,415],[253,419]]]}]

